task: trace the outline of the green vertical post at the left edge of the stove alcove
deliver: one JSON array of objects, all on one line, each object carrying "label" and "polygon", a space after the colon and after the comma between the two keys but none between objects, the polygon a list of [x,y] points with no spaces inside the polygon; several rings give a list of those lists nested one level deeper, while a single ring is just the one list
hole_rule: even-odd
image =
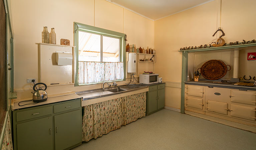
[{"label": "green vertical post at the left edge of the stove alcove", "polygon": [[185,113],[184,111],[184,100],[185,100],[185,81],[187,81],[188,74],[188,53],[182,53],[182,75],[181,75],[181,113]]}]

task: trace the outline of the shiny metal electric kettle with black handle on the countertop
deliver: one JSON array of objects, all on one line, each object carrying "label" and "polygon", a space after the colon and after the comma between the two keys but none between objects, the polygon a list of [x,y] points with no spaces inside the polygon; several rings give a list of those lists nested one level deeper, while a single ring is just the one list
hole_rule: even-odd
[{"label": "shiny metal electric kettle with black handle on the countertop", "polygon": [[[45,89],[42,90],[41,87],[39,87],[39,89],[37,89],[37,85],[39,84],[42,84],[45,86]],[[47,86],[45,83],[36,83],[34,86],[33,86],[33,90],[31,93],[33,93],[33,102],[35,103],[38,103],[38,102],[44,102],[47,100],[47,93],[46,93],[46,90],[47,89]]]}]

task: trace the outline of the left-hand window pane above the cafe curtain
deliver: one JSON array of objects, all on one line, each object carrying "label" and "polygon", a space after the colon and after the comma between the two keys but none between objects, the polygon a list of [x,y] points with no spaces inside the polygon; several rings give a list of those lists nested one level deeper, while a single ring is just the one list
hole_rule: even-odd
[{"label": "left-hand window pane above the cafe curtain", "polygon": [[78,61],[100,62],[100,35],[78,33]]}]

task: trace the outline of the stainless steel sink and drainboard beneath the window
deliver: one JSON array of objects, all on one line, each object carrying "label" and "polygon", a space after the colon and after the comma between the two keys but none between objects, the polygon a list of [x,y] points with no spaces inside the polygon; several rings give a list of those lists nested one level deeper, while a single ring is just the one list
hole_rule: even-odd
[{"label": "stainless steel sink and drainboard beneath the window", "polygon": [[100,88],[100,89],[76,92],[75,94],[83,97],[83,101],[85,101],[85,100],[94,99],[94,98],[100,98],[100,97],[111,96],[115,94],[121,94],[125,92],[136,91],[143,88],[148,88],[148,87],[144,85],[121,85],[121,86],[116,86],[112,88],[111,87],[105,88],[104,91],[102,90],[102,88]]}]

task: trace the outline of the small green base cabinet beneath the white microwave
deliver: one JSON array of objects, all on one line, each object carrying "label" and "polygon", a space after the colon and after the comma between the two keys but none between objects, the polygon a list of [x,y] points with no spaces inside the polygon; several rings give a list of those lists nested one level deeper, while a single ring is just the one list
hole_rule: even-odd
[{"label": "small green base cabinet beneath the white microwave", "polygon": [[147,92],[146,115],[150,115],[165,107],[165,83],[149,85]]}]

